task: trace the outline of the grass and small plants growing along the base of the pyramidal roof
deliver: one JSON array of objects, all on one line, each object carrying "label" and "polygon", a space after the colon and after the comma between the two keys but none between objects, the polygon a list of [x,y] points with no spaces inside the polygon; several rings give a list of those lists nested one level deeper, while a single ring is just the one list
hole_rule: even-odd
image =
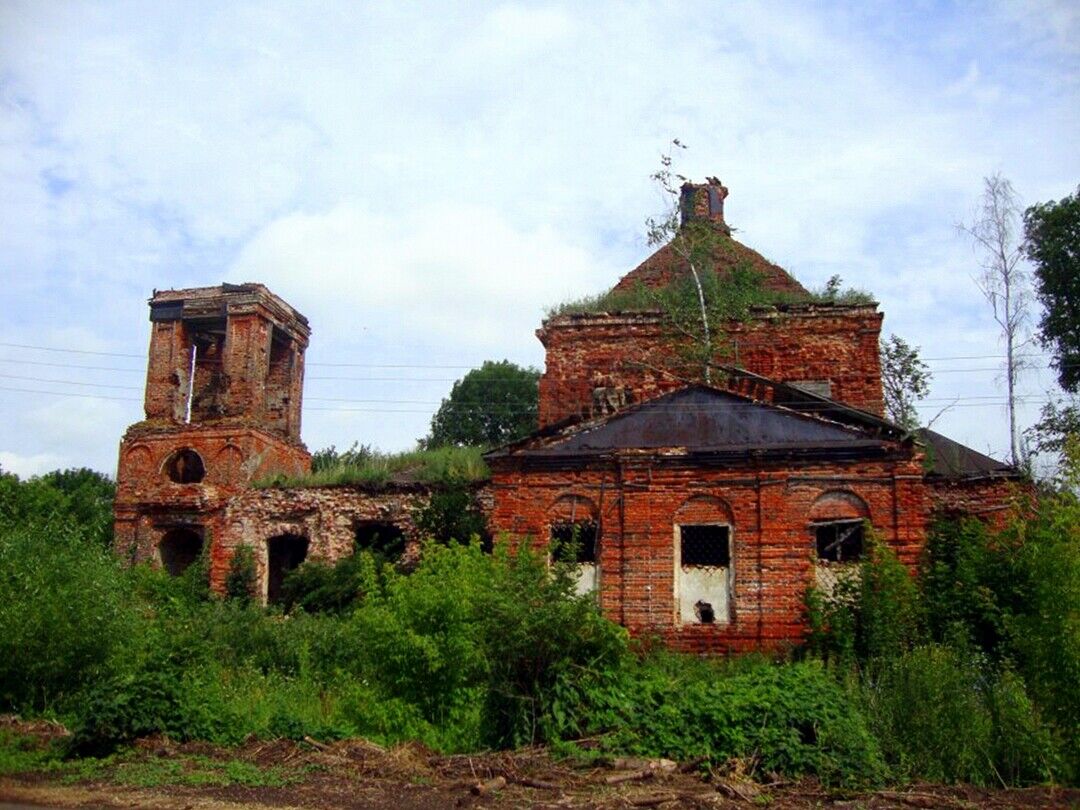
[{"label": "grass and small plants growing along the base of the pyramidal roof", "polygon": [[[806,295],[771,289],[764,275],[750,262],[743,262],[726,273],[707,273],[702,279],[706,299],[723,314],[741,320],[743,313],[756,307],[781,307],[799,303],[872,305],[876,300],[865,289],[843,288],[840,276],[834,275],[819,289]],[[692,312],[698,307],[698,289],[689,273],[660,288],[637,283],[631,289],[609,289],[597,295],[563,301],[544,310],[545,318],[619,312]]]}]

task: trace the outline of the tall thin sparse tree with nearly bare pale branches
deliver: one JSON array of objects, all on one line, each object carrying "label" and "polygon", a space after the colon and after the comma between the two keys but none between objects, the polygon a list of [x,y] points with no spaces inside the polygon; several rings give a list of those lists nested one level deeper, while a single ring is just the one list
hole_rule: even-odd
[{"label": "tall thin sparse tree with nearly bare pale branches", "polygon": [[983,272],[975,279],[994,310],[994,320],[1005,340],[1005,403],[1009,409],[1009,443],[1013,464],[1021,463],[1016,429],[1016,380],[1024,367],[1021,349],[1027,343],[1030,320],[1028,278],[1022,259],[1020,200],[1012,184],[999,174],[984,179],[978,213],[960,230],[971,237],[982,254]]}]

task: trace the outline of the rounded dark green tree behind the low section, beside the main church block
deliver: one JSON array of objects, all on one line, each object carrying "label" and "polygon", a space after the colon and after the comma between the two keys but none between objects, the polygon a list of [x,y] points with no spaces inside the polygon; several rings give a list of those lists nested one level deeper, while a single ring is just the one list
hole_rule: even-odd
[{"label": "rounded dark green tree behind the low section, beside the main church block", "polygon": [[540,372],[486,361],[454,383],[431,419],[428,448],[500,445],[536,430]]}]

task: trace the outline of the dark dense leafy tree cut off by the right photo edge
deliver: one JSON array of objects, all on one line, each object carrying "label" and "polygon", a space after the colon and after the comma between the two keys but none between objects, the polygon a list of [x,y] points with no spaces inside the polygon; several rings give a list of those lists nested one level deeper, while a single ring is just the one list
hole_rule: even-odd
[{"label": "dark dense leafy tree cut off by the right photo edge", "polygon": [[1024,212],[1024,253],[1035,265],[1042,303],[1039,337],[1053,353],[1057,381],[1080,391],[1080,187],[1071,197]]}]

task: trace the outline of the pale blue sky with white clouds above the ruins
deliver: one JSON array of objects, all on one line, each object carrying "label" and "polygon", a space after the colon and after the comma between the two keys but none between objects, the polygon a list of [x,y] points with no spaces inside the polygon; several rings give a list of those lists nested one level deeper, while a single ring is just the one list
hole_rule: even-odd
[{"label": "pale blue sky with white clouds above the ruins", "polygon": [[1080,183],[1077,9],[0,0],[0,467],[113,473],[146,299],[221,281],[311,320],[309,447],[408,447],[468,368],[542,367],[544,306],[648,254],[673,137],[742,241],[875,293],[935,370],[924,418],[954,403],[935,428],[1000,456],[955,225],[986,175],[1025,203]]}]

